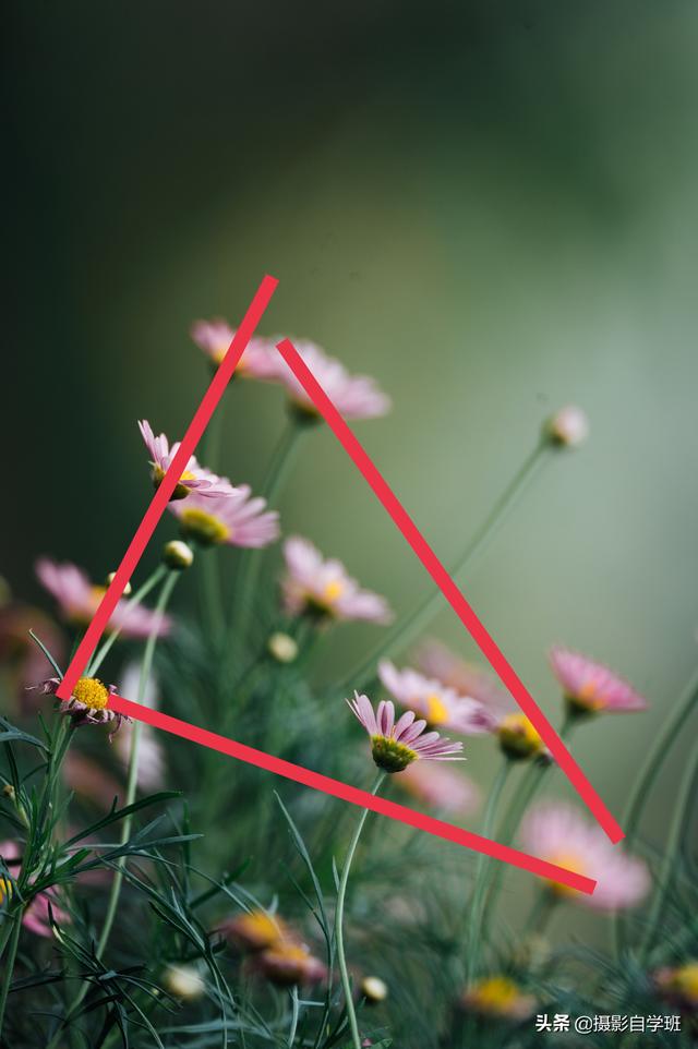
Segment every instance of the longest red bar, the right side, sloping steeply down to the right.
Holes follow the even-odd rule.
[[[444,598],[459,617],[472,639],[480,647],[485,659],[496,671],[501,680],[517,701],[526,716],[551,751],[553,758],[563,770],[580,798],[588,806],[598,822],[604,829],[612,842],[619,842],[625,835],[618,823],[611,815],[603,800],[597,794],[591,783],[583,774],[564,743],[542,712],[522,680],[510,665],[497,643],[482,625],[466,598],[448,575],[432,547],[429,545],[419,528],[409,516],[395,492],[385,481],[377,467],[373,463],[364,448],[357,441],[353,433],[341,418],[330,399],[327,397],[315,376],[293,347],[290,339],[282,339],[277,343],[284,360],[291,369],[303,389],[311,398],[323,419],[330,427],[342,448],[360,470],[374,494],[390,515],[398,529],[412,547],[422,565],[430,574]]]

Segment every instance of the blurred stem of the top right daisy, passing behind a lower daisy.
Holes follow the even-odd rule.
[[[308,424],[301,422],[294,414],[289,417],[289,421],[274,450],[266,478],[260,490],[260,494],[267,501],[269,506],[278,499],[284,489],[284,484],[296,461],[301,436],[308,429]],[[254,602],[254,592],[263,556],[263,550],[244,550],[240,555],[238,578],[236,580],[230,615],[230,651],[236,660],[240,659],[243,651],[245,628],[249,628],[252,620],[252,604]]]

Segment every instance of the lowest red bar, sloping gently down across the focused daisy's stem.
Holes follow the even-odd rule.
[[[285,776],[287,780],[294,780],[296,783],[302,783],[303,786],[313,787],[315,791],[323,791],[333,797],[341,798],[342,801],[351,801],[352,805],[359,805],[361,808],[372,809],[374,812],[389,816],[394,820],[400,820],[410,827],[416,827],[421,831],[426,831],[429,834],[434,834],[436,837],[444,837],[446,841],[455,842],[457,845],[473,848],[476,852],[484,853],[485,856],[491,856],[493,859],[512,864],[514,867],[520,867],[522,870],[530,870],[532,873],[538,875],[540,878],[546,878],[549,881],[569,885],[570,889],[577,889],[579,892],[585,892],[589,895],[593,893],[597,887],[597,882],[592,878],[586,878],[583,875],[568,870],[566,867],[558,867],[556,864],[550,864],[547,860],[539,859],[537,856],[529,856],[528,853],[522,853],[508,845],[500,845],[497,842],[491,842],[490,839],[482,837],[480,834],[473,834],[472,831],[454,827],[454,824],[434,819],[432,816],[424,816],[422,812],[417,812],[414,809],[408,808],[406,805],[399,805],[397,801],[389,801],[387,798],[376,797],[370,794],[369,791],[361,791],[359,787],[350,786],[340,780],[333,780],[332,776],[313,772],[311,769],[304,769],[299,764],[293,764],[284,758],[275,758],[273,755],[265,753],[264,750],[248,747],[245,744],[238,743],[236,739],[229,739],[227,736],[219,736],[217,733],[208,732],[206,728],[198,728],[196,725],[191,725],[186,721],[180,721],[179,718],[171,718],[169,714],[164,714],[159,710],[151,710],[151,708],[143,707],[141,703],[133,703],[122,696],[111,696],[109,698],[109,709],[119,714],[127,714],[130,718],[143,721],[154,728],[161,728],[165,732],[172,733],[174,736],[190,739],[193,743],[200,744],[202,747],[218,750],[220,753],[228,755],[230,758],[246,761],[249,764],[254,764],[258,769],[273,772],[275,775]]]

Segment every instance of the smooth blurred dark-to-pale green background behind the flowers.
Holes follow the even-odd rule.
[[[262,330],[320,342],[394,397],[357,431],[447,563],[541,420],[588,412],[589,444],[539,478],[466,593],[549,712],[553,641],[648,696],[649,713],[575,743],[621,812],[696,660],[696,4],[4,14],[0,570],[15,592],[38,596],[39,553],[95,578],[116,566],[149,496],[136,418],[182,432],[207,382],[191,321],[236,323],[272,273]],[[281,403],[231,391],[234,480],[258,482]],[[396,608],[423,593],[326,432],[281,510]],[[435,632],[474,654],[449,611]],[[374,640],[338,631],[325,666]],[[492,748],[472,749],[489,774]],[[670,772],[657,834],[672,788]]]

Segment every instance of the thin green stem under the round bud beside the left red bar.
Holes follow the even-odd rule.
[[[155,656],[155,649],[157,646],[160,619],[165,614],[167,603],[170,599],[170,595],[172,593],[172,590],[174,589],[174,584],[177,583],[179,577],[180,577],[180,574],[177,571],[171,571],[168,574],[167,579],[163,583],[163,589],[160,590],[160,594],[158,596],[157,604],[155,606],[155,620],[153,623],[153,629],[151,630],[148,639],[145,643],[145,650],[143,652],[143,662],[141,663],[141,677],[139,680],[139,695],[136,698],[136,702],[139,703],[142,703],[145,700],[145,691],[146,691],[148,679],[151,677],[151,673],[153,670],[153,659]],[[139,783],[139,751],[140,751],[142,733],[143,733],[143,723],[140,721],[136,721],[135,724],[133,725],[133,731],[131,733],[131,752],[129,755],[129,772],[128,772],[128,779],[127,779],[127,794],[125,794],[124,808],[127,808],[129,805],[133,805],[133,803],[135,801],[136,788]],[[121,837],[120,837],[121,845],[125,845],[127,842],[129,841],[132,820],[133,820],[132,815],[124,817],[124,820],[121,827]],[[105,917],[104,925],[101,927],[99,941],[95,949],[96,958],[100,958],[101,955],[104,954],[105,949],[107,946],[107,942],[111,935],[111,929],[113,927],[113,921],[115,921],[115,918],[117,915],[117,908],[119,905],[121,885],[123,883],[123,870],[125,867],[125,863],[127,863],[125,856],[120,857],[118,869],[115,871],[113,881],[111,883],[111,892],[109,894],[109,903],[107,905],[107,914]],[[75,997],[75,1001],[73,1002],[72,1006],[68,1011],[68,1014],[65,1016],[65,1023],[69,1022],[72,1014],[75,1013],[75,1011],[82,1004],[83,999],[87,993],[88,987],[89,985],[86,981],[83,982],[83,986],[81,987],[77,996]],[[58,1030],[56,1032],[53,1039],[49,1042],[48,1049],[53,1049],[53,1046],[58,1041],[59,1037],[61,1036],[61,1033],[62,1033],[62,1026],[59,1027]]]

